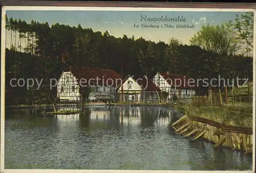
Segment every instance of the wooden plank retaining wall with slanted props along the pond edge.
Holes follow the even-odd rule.
[[[200,117],[184,115],[172,124],[175,131],[191,140],[202,138],[214,143],[214,148],[221,145],[243,150],[245,155],[252,153],[252,128],[223,125],[219,122]]]

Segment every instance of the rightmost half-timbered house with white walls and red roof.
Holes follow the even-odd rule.
[[[191,98],[196,95],[198,87],[194,79],[186,76],[169,74],[168,72],[157,73],[153,77],[153,82],[162,91],[168,93],[168,99],[171,96],[178,98]],[[175,86],[176,85],[176,86]]]

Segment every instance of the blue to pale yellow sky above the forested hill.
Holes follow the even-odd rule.
[[[182,11],[6,11],[8,18],[31,20],[52,24],[66,24],[70,26],[78,26],[81,24],[83,28],[92,28],[93,31],[106,30],[115,37],[122,37],[124,34],[128,37],[134,35],[135,38],[143,37],[152,41],[169,42],[174,37],[179,39],[182,44],[189,45],[189,39],[196,34],[203,25],[214,24],[220,25],[234,20],[236,14],[242,12],[182,12]],[[147,17],[156,17],[167,15],[168,18],[183,16],[186,22],[159,22],[141,21],[141,15]],[[164,25],[171,24],[175,28],[134,28],[134,24],[140,25]],[[177,29],[176,24],[195,25],[194,29]],[[7,37],[10,33],[7,34]],[[8,40],[8,39],[7,39]],[[8,45],[8,43],[7,43]]]

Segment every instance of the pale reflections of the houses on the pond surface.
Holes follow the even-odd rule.
[[[62,107],[60,110],[68,110],[70,107]],[[75,109],[75,108],[74,108]],[[167,107],[147,107],[147,106],[93,106],[90,109],[91,126],[96,128],[96,122],[116,122],[128,125],[140,124],[156,124],[168,125],[170,121],[177,115],[177,111]],[[82,120],[79,114],[74,115],[56,115],[56,118],[61,121]],[[89,121],[88,121],[89,122]],[[95,124],[96,123],[96,124]],[[99,125],[99,124],[98,124]],[[104,126],[101,124],[101,126]]]

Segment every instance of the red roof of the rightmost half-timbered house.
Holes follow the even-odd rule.
[[[163,76],[163,78],[168,82],[169,85],[171,85],[171,87],[175,87],[176,85],[177,88],[198,89],[197,82],[195,80],[192,80],[193,78],[182,75],[168,74],[167,72],[160,72],[159,74]]]

